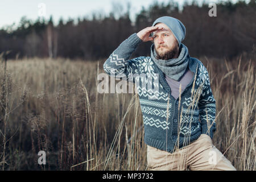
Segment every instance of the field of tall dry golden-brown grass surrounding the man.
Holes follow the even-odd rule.
[[[255,60],[200,60],[216,100],[213,144],[237,170],[255,170]],[[1,63],[2,170],[147,170],[138,94],[98,93],[104,61]]]

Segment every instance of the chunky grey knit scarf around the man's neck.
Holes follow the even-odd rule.
[[[180,44],[180,55],[177,58],[162,60],[156,59],[156,52],[154,48],[154,44],[151,46],[151,58],[158,66],[158,68],[168,77],[172,78],[175,81],[180,81],[180,78],[184,75],[187,67],[188,67],[188,48],[181,43]]]

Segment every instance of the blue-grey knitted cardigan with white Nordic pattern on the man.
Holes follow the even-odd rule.
[[[175,99],[163,72],[151,57],[129,60],[141,42],[136,33],[130,35],[105,61],[104,71],[110,76],[124,75],[127,81],[135,83],[143,114],[144,142],[172,153],[176,148],[195,141],[201,134],[212,138],[216,130],[216,104],[203,63],[189,56],[188,68],[193,72],[193,78],[181,97]],[[153,83],[147,78],[139,80],[142,74],[151,77]],[[150,84],[154,89],[145,89],[143,84]]]

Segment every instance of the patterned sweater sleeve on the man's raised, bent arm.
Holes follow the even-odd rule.
[[[141,42],[142,40],[136,33],[130,35],[105,61],[103,65],[104,71],[110,76],[122,77],[122,79],[125,76],[126,81],[135,82],[133,74],[140,74],[142,69],[141,63],[145,57],[136,57],[131,60],[129,58]]]

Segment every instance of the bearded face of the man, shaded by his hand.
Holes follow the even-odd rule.
[[[156,59],[173,59],[179,56],[179,43],[170,28],[164,23],[156,23],[162,30],[153,32]]]

